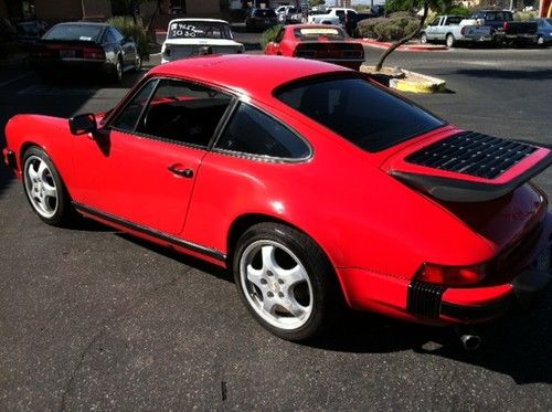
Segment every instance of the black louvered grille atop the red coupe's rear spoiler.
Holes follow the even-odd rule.
[[[410,155],[406,161],[495,179],[535,150],[537,147],[523,142],[464,131]]]

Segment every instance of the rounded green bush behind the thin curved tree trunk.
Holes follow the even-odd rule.
[[[393,13],[389,18],[367,19],[357,27],[359,36],[380,42],[401,40],[417,29],[420,19],[407,12]]]

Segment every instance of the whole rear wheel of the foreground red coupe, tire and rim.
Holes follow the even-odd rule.
[[[237,292],[255,319],[293,341],[314,338],[333,323],[340,289],[320,247],[279,223],[261,223],[237,242],[233,260]]]

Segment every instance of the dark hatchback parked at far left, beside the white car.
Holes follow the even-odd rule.
[[[139,71],[135,41],[106,23],[60,23],[32,47],[30,66],[46,78],[60,72],[103,73],[120,82],[126,71]]]

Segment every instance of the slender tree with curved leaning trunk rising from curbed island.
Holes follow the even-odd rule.
[[[375,64],[375,71],[381,71],[385,59],[388,59],[388,56],[393,53],[393,51],[395,51],[400,45],[420,35],[420,32],[425,24],[425,19],[427,18],[427,12],[429,11],[429,9],[437,12],[440,10],[446,10],[452,6],[452,2],[453,0],[388,0],[388,2],[385,3],[385,13],[420,9],[423,10],[423,13],[416,30],[414,30],[411,34],[404,36],[403,39],[393,42],[393,44],[391,44],[389,49],[382,53],[382,55],[380,56],[380,61]]]

